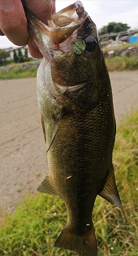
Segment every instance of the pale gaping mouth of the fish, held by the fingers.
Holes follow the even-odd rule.
[[[85,23],[88,13],[80,1],[52,14],[52,20],[48,20],[48,26],[42,23],[32,12],[25,9],[29,31],[43,56],[51,55],[49,50],[59,50],[69,37],[70,41],[77,38],[77,31]],[[73,36],[74,31],[75,36]],[[73,37],[73,39],[72,39]],[[44,49],[42,49],[44,48]],[[48,53],[45,53],[48,51]],[[50,56],[48,57],[48,59]]]

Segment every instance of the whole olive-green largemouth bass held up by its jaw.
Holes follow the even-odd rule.
[[[95,23],[77,1],[48,26],[26,11],[44,56],[37,73],[38,105],[49,175],[38,191],[58,195],[67,223],[56,247],[96,256],[92,211],[97,195],[122,206],[112,154],[116,134],[111,82]]]

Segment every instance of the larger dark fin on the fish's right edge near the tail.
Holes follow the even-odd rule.
[[[99,193],[99,196],[106,199],[109,203],[117,205],[122,208],[122,203],[118,194],[118,189],[115,181],[114,167],[113,164],[109,170],[107,180],[104,184],[103,189]]]

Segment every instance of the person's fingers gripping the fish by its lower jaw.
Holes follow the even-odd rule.
[[[47,24],[47,20],[56,11],[55,2],[56,0],[0,0],[0,35],[6,35],[17,46],[28,44],[30,54],[41,58],[42,55],[27,30],[23,5]]]

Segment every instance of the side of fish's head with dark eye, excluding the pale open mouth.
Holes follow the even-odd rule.
[[[103,51],[97,28],[88,14],[83,17],[81,25],[66,40],[53,46],[51,67],[55,81],[63,78],[74,86],[90,79],[97,79],[103,62]]]

